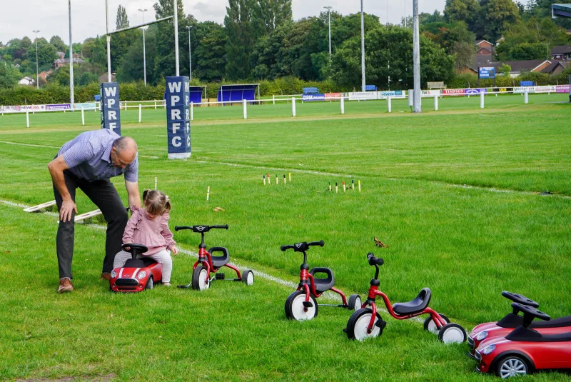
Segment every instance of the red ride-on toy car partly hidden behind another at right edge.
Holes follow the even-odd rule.
[[[502,296],[521,305],[532,306],[539,308],[540,304],[536,303],[521,294],[502,292]],[[520,316],[519,308],[513,308],[513,311],[497,322],[480,323],[472,329],[470,336],[468,336],[468,347],[470,348],[470,356],[475,356],[475,350],[480,343],[487,338],[492,337],[505,337],[517,326],[522,325],[523,317]],[[571,316],[555,318],[550,321],[533,321],[530,323],[530,329],[535,329],[542,334],[557,334],[571,331]]]

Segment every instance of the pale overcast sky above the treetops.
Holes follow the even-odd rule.
[[[179,0],[180,1],[180,0]],[[115,29],[115,17],[119,4],[127,9],[131,25],[143,19],[138,9],[148,9],[147,21],[154,19],[153,4],[156,0],[108,0],[109,29]],[[400,17],[412,14],[413,0],[363,0],[366,13],[375,14],[385,23],[400,22]],[[228,0],[183,0],[185,14],[193,14],[198,21],[223,23]],[[445,0],[420,1],[420,11],[442,11]],[[360,0],[293,0],[293,19],[315,16],[323,6],[333,6],[341,14],[360,11]],[[71,0],[72,34],[74,42],[105,34],[105,0]],[[29,36],[34,39],[35,29],[39,36],[50,39],[59,35],[69,41],[68,1],[66,0],[0,0],[0,41],[6,44],[11,39]]]

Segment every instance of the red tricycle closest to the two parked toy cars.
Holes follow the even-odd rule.
[[[466,341],[466,331],[462,326],[458,323],[450,323],[446,316],[438,314],[428,307],[432,293],[429,288],[423,288],[413,301],[391,304],[385,293],[378,290],[380,285],[379,266],[382,266],[385,261],[382,258],[376,258],[373,253],[368,253],[367,259],[370,266],[375,266],[375,278],[370,281],[367,300],[358,311],[350,316],[347,328],[343,330],[349,339],[363,341],[366,338],[378,337],[383,334],[383,329],[387,323],[380,318],[375,304],[377,296],[381,296],[388,313],[394,318],[405,320],[430,314],[424,323],[425,330],[438,331],[438,338],[444,343],[463,343]]]

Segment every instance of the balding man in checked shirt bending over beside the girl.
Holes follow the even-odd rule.
[[[74,256],[74,223],[77,213],[75,198],[78,187],[98,206],[107,222],[101,278],[108,280],[115,255],[121,250],[123,231],[128,221],[123,201],[109,178],[124,174],[129,207],[141,207],[136,142],[108,129],[86,131],[64,144],[58,156],[48,164],[48,169],[59,209],[56,238],[58,293],[74,290],[71,285],[71,259]]]

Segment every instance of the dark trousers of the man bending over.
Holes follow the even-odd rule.
[[[94,202],[103,213],[103,218],[107,222],[107,238],[105,242],[105,258],[103,258],[103,272],[113,271],[113,260],[116,253],[121,251],[123,244],[123,232],[128,221],[128,214],[123,206],[123,201],[119,197],[115,186],[108,179],[101,181],[86,181],[79,179],[70,171],[64,171],[64,179],[67,189],[76,201],[76,189],[81,191]],[[58,211],[61,209],[63,199],[54,185],[54,196]],[[75,212],[72,211],[71,221],[59,221],[58,233],[56,237],[56,248],[58,253],[59,277],[71,278],[71,260],[74,257],[74,233],[75,233]]]

